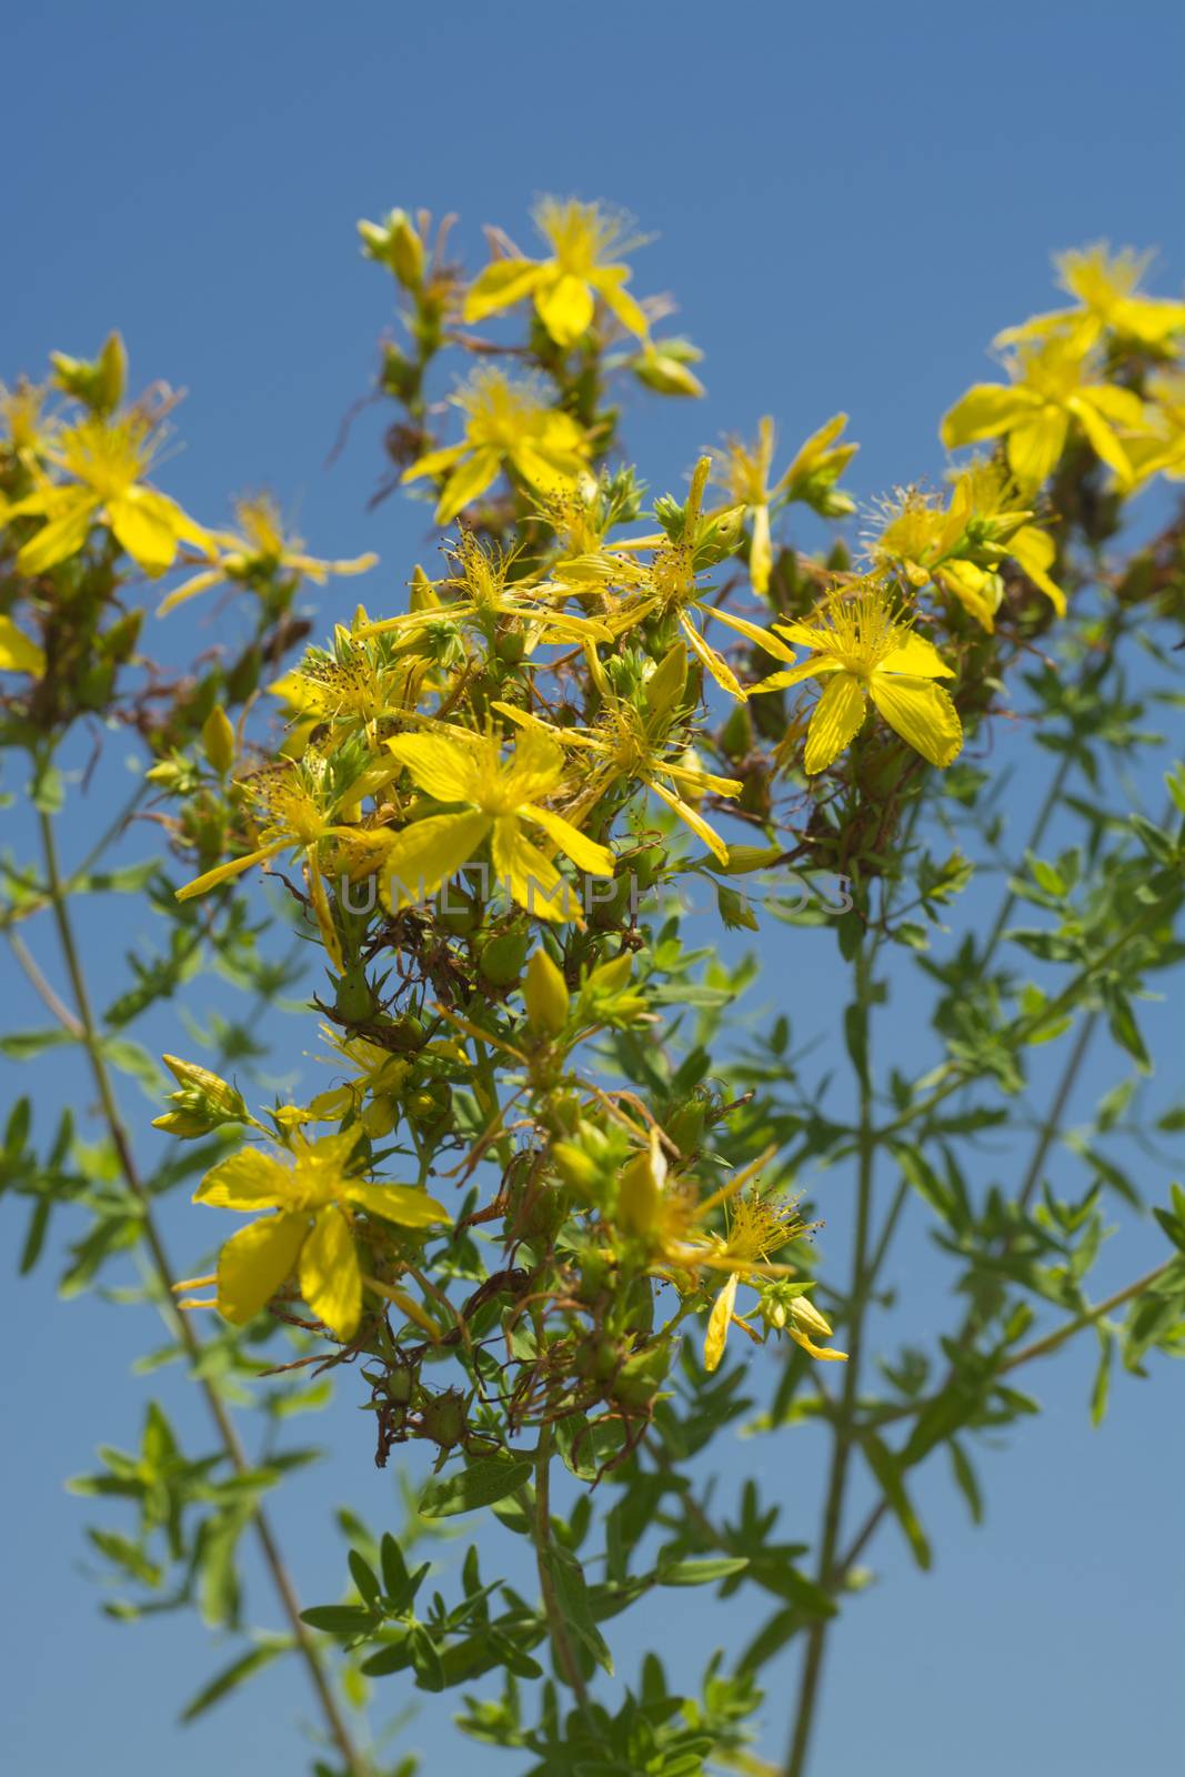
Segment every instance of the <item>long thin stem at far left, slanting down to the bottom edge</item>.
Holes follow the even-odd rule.
[[[133,1192],[137,1203],[140,1205],[144,1242],[147,1246],[147,1253],[162,1295],[167,1303],[171,1299],[169,1292],[172,1287],[172,1267],[169,1265],[169,1256],[165,1253],[160,1231],[156,1228],[156,1221],[153,1217],[149,1192],[144,1187],[144,1180],[140,1178],[135,1159],[131,1155],[128,1132],[123,1125],[123,1118],[119,1116],[115,1093],[112,1089],[107,1061],[103,1057],[98,1025],[94,1022],[94,1013],[91,1009],[91,995],[87,992],[85,976],[78,958],[78,945],[75,942],[75,931],[69,919],[69,908],[66,904],[66,890],[62,885],[62,874],[57,858],[57,841],[53,837],[53,821],[44,812],[39,816],[39,821],[41,821],[41,842],[44,851],[46,880],[50,885],[50,901],[53,906],[53,920],[57,924],[57,935],[62,947],[62,960],[66,963],[66,972],[69,976],[71,992],[78,1011],[78,1024],[82,1025],[82,1043],[91,1061],[91,1073],[94,1075],[94,1086],[99,1095],[103,1121],[107,1123],[107,1130],[115,1148],[119,1169],[128,1183],[128,1189]],[[197,1368],[199,1358],[203,1354],[203,1345],[197,1333],[194,1331],[192,1320],[188,1320],[187,1315],[178,1315],[178,1333],[185,1347],[185,1352],[188,1356],[190,1367]],[[226,1406],[222,1404],[217,1388],[204,1377],[199,1377],[199,1388],[206,1397],[206,1406],[210,1407],[210,1414],[215,1422],[219,1438],[222,1441],[222,1448],[226,1450],[231,1468],[235,1470],[236,1475],[249,1473],[251,1462],[247,1461],[247,1452],[243,1450],[238,1430],[235,1429],[235,1423],[231,1422]],[[362,1763],[359,1752],[354,1747],[350,1731],[345,1724],[345,1717],[341,1715],[338,1699],[332,1693],[329,1674],[325,1670],[322,1656],[313,1638],[309,1637],[307,1626],[300,1621],[300,1601],[297,1598],[297,1590],[288,1574],[288,1567],[284,1566],[284,1558],[275,1541],[272,1525],[261,1505],[258,1505],[252,1514],[252,1525],[256,1530],[256,1537],[259,1541],[259,1550],[263,1553],[265,1566],[272,1576],[275,1594],[281,1601],[281,1608],[284,1612],[284,1617],[288,1619],[295,1647],[306,1663],[309,1681],[313,1685],[313,1690],[316,1692],[316,1699],[325,1717],[325,1725],[329,1729],[329,1734],[338,1750],[341,1752],[346,1763],[346,1770],[352,1773],[352,1777],[364,1777],[366,1765]]]

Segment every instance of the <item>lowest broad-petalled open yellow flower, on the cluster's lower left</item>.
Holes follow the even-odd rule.
[[[219,1253],[215,1278],[192,1278],[178,1288],[217,1279],[219,1311],[235,1326],[243,1326],[297,1271],[300,1294],[313,1313],[336,1338],[354,1338],[362,1317],[364,1283],[354,1212],[364,1210],[400,1228],[441,1228],[449,1223],[444,1205],[426,1191],[350,1176],[350,1157],[361,1134],[354,1128],[320,1141],[295,1136],[290,1166],[261,1148],[243,1148],[219,1160],[194,1192],[194,1203],[277,1214],[261,1215],[231,1235]]]

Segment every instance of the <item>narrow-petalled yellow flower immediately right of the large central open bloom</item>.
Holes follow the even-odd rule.
[[[528,716],[526,711],[515,709],[512,704],[494,704],[494,709],[521,729],[549,737],[553,745],[576,746],[593,753],[597,764],[576,805],[569,810],[570,814],[577,810],[585,814],[622,780],[643,784],[691,828],[721,864],[727,864],[727,844],[684,796],[696,800],[709,793],[739,796],[744,785],[739,778],[721,778],[709,771],[693,769],[682,762],[684,743],[666,739],[666,729],[682,697],[686,677],[688,650],[677,643],[650,673],[643,709],[616,697],[608,682],[600,688],[602,713],[595,729],[549,729],[538,716]],[[675,759],[670,757],[672,746],[677,748]],[[661,778],[666,778],[666,784]],[[679,791],[684,791],[684,796]]]

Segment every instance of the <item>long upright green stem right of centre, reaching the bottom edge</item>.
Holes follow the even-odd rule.
[[[871,1000],[871,945],[862,947],[856,958],[856,1000],[869,1008]],[[872,951],[874,954],[874,951]],[[867,1050],[867,1045],[865,1045]],[[855,1441],[856,1406],[860,1400],[860,1358],[863,1351],[863,1322],[869,1303],[872,1272],[869,1267],[869,1231],[872,1224],[872,1183],[876,1160],[876,1136],[872,1128],[872,1077],[867,1052],[860,1075],[860,1132],[858,1132],[858,1178],[856,1178],[856,1231],[853,1239],[851,1292],[847,1317],[847,1363],[844,1365],[844,1388],[833,1420],[831,1468],[823,1505],[823,1530],[819,1537],[817,1582],[830,1587],[839,1539],[844,1525],[844,1500],[847,1494],[847,1471]],[[819,1683],[828,1646],[830,1619],[812,1622],[803,1653],[803,1669],[798,1686],[798,1706],[794,1709],[794,1733],[785,1763],[785,1777],[803,1777],[807,1752],[819,1706]]]

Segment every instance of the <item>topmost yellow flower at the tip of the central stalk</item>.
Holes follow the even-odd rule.
[[[604,263],[641,245],[624,238],[627,224],[599,204],[544,197],[535,208],[535,226],[553,251],[551,259],[494,259],[465,297],[465,320],[485,320],[533,297],[544,327],[567,348],[588,332],[600,297],[629,332],[645,339],[647,316],[625,290],[629,267]]]

